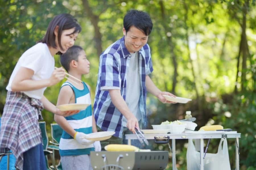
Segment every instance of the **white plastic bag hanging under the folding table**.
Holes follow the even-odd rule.
[[[228,156],[227,139],[221,138],[218,147],[218,152],[216,154],[206,153],[205,159],[203,160],[205,170],[231,170]],[[196,151],[192,139],[189,139],[187,147],[187,169],[200,169],[200,152]]]

